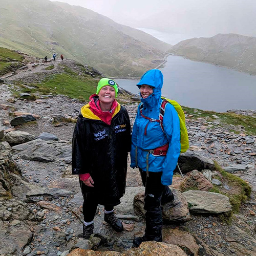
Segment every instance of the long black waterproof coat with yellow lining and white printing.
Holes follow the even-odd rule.
[[[125,192],[127,154],[131,150],[131,126],[126,109],[118,104],[111,124],[95,116],[89,104],[79,114],[72,143],[72,174],[89,173],[99,204],[117,205]]]

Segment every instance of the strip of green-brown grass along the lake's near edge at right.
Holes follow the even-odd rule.
[[[245,132],[249,135],[256,135],[256,117],[254,116],[244,116],[239,114],[234,114],[230,112],[218,113],[214,111],[204,111],[200,109],[190,109],[186,106],[182,106],[183,111],[188,115],[193,115],[193,117],[187,117],[189,119],[204,118],[206,121],[218,120],[221,124],[232,124],[234,126],[242,125],[244,126]],[[196,110],[196,111],[195,111]],[[219,118],[215,119],[212,115],[216,115]],[[234,127],[230,129],[230,132],[239,133]]]

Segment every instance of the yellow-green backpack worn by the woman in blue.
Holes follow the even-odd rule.
[[[160,115],[159,115],[159,119],[161,120],[161,122],[160,122],[161,128],[163,130],[162,119],[163,119],[163,115],[165,113],[165,106],[169,102],[170,104],[172,104],[174,106],[175,110],[178,113],[179,119],[180,119],[180,153],[184,153],[188,150],[188,147],[189,147],[184,112],[183,112],[180,104],[178,102],[176,102],[175,100],[167,99],[164,97],[161,97],[161,99],[163,99],[163,101],[161,103]]]

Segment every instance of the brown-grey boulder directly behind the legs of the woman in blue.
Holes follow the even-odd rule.
[[[172,189],[172,191],[174,200],[162,205],[163,221],[166,223],[189,221],[190,215],[185,197],[176,189]],[[144,218],[146,212],[144,204],[144,192],[140,192],[134,197],[134,211],[142,218]]]

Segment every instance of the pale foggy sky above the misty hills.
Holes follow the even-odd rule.
[[[54,0],[51,0],[54,1]],[[210,37],[256,36],[255,0],[59,0],[134,28]]]

